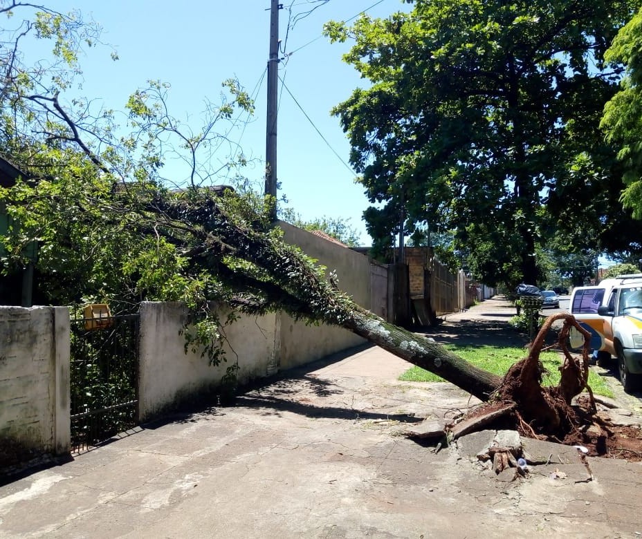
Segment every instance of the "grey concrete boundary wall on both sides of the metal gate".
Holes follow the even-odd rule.
[[[286,242],[336,270],[339,287],[356,303],[385,315],[385,267],[373,276],[367,256],[287,223],[280,226]],[[284,313],[242,316],[225,329],[228,362],[214,367],[200,351],[185,354],[179,332],[186,319],[179,303],[140,305],[140,421],[211,393],[237,359],[244,384],[363,343],[342,328],[308,326]],[[70,450],[69,343],[67,308],[0,307],[0,442],[11,439],[42,453]]]

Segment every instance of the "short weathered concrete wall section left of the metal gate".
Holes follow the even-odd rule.
[[[69,338],[67,308],[0,307],[0,443],[69,451]]]

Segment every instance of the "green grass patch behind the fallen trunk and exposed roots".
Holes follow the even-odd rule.
[[[502,346],[444,346],[450,352],[466,359],[476,367],[488,370],[497,376],[504,376],[508,368],[516,361],[526,357],[525,348],[502,347]],[[544,352],[540,354],[540,360],[544,368],[548,371],[544,374],[544,386],[556,386],[560,382],[559,366],[562,364],[562,358],[557,352]],[[443,378],[434,375],[428,370],[413,366],[399,377],[404,381],[445,381]],[[614,394],[607,386],[603,377],[599,376],[593,370],[589,370],[589,386],[596,395],[605,397],[614,397]]]

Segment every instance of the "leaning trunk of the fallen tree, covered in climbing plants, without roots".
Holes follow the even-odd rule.
[[[189,230],[199,238],[201,243],[191,254],[207,271],[219,272],[228,283],[235,283],[236,293],[227,298],[230,305],[249,313],[283,309],[296,319],[340,325],[482,400],[499,386],[501,379],[496,375],[364,310],[299,249],[286,245],[270,225],[260,229],[258,223],[265,222],[259,216],[248,227],[232,218],[224,205],[219,197],[201,200],[196,207],[193,201],[188,205],[184,200],[163,208],[157,205],[153,224],[158,227],[164,222],[167,229]],[[239,258],[250,265],[239,265]],[[256,278],[257,272],[268,278]]]

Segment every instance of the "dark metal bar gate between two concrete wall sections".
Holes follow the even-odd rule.
[[[138,314],[71,321],[71,448],[138,424]]]

